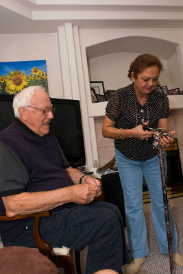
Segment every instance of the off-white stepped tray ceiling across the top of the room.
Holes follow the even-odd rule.
[[[0,0],[0,34],[79,29],[183,28],[182,0]]]

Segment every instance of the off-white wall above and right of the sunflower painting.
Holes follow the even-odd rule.
[[[0,40],[0,62],[46,60],[49,96],[62,98],[57,34],[6,34]]]

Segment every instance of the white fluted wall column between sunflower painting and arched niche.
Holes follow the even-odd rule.
[[[80,37],[77,27],[66,23],[64,27],[58,27],[58,41],[60,49],[60,62],[62,68],[62,82],[64,99],[80,100],[82,112],[82,125],[84,131],[84,145],[86,153],[86,165],[88,169],[93,167],[95,161],[99,162],[97,153],[97,139],[95,134],[94,118],[88,117],[88,104],[86,90],[90,92],[88,66],[86,60],[82,60]],[[84,73],[83,62],[87,71]],[[86,79],[85,78],[86,75]],[[85,82],[87,84],[85,85]]]

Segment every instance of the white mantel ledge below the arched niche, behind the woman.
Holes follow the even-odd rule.
[[[169,105],[171,110],[180,110],[183,108],[183,95],[169,95]],[[104,116],[107,101],[100,103],[88,103],[88,116]]]

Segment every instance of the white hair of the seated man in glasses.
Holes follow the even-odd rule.
[[[20,107],[27,107],[30,105],[32,96],[34,95],[35,90],[42,90],[45,91],[43,86],[28,86],[28,88],[24,88],[19,93],[14,96],[13,99],[13,109],[14,109],[14,116],[19,118],[19,108]],[[46,92],[46,91],[45,91]]]

